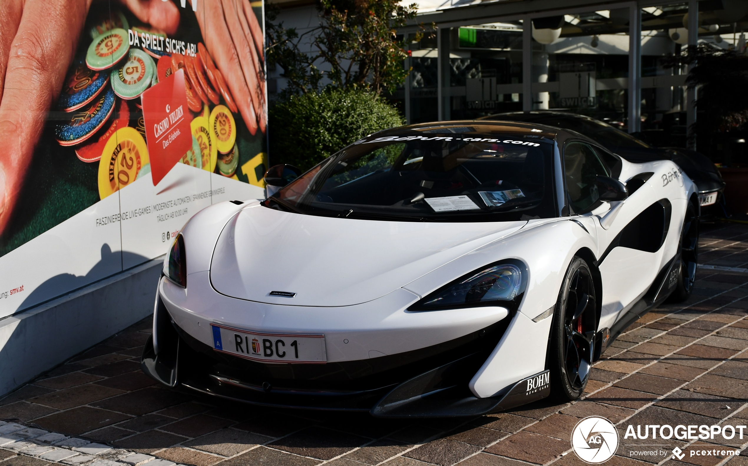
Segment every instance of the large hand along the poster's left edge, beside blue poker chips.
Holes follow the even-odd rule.
[[[171,1],[120,1],[141,21],[177,30],[180,13]],[[0,0],[0,234],[73,61],[89,7],[91,0]]]

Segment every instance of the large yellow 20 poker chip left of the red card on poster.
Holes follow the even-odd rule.
[[[148,164],[148,146],[137,129],[126,126],[114,131],[99,161],[99,197],[104,199],[135,181]]]

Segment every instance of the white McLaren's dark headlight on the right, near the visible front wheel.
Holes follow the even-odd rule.
[[[456,279],[411,305],[408,310],[435,311],[497,303],[516,309],[524,293],[526,275],[524,264],[506,259]]]

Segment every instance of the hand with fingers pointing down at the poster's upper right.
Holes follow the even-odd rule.
[[[264,37],[249,0],[197,3],[197,22],[247,128],[266,131]]]

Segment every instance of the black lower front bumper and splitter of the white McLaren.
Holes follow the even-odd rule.
[[[183,327],[191,320],[205,319],[199,314],[188,318],[195,313],[168,299],[174,296],[164,292],[164,285],[169,282],[159,287],[154,316],[158,354],[152,338],[141,366],[170,387],[262,406],[370,411],[378,417],[475,415],[530,403],[549,393],[548,387],[536,387],[527,394],[520,384],[517,393],[509,386],[493,397],[479,398],[468,388],[505,334],[512,321],[509,317],[457,338],[392,355],[348,360],[328,357],[327,364],[268,364],[216,352],[187,332]],[[209,326],[206,324],[200,326]]]

